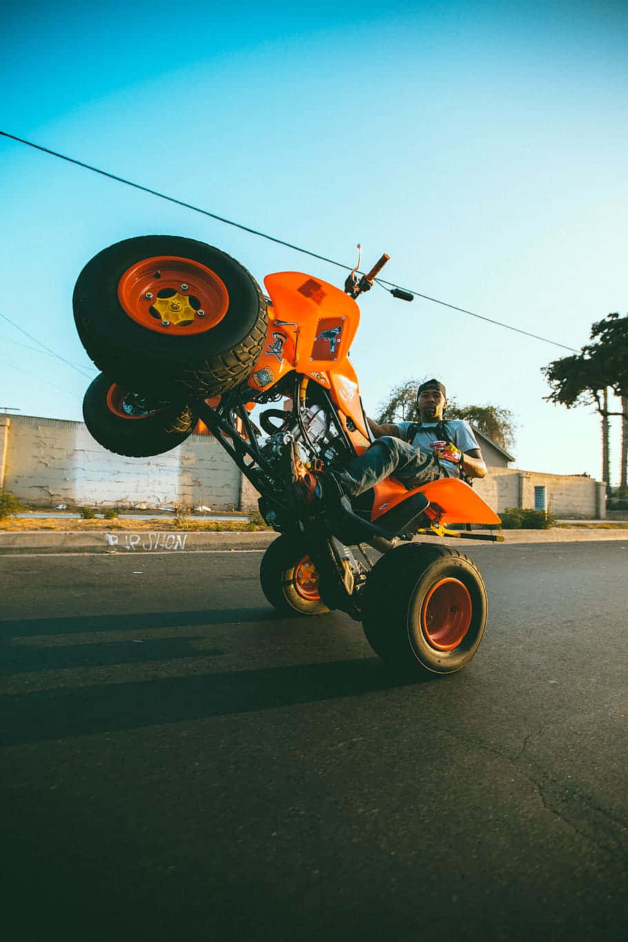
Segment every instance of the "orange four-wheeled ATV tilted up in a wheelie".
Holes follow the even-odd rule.
[[[458,479],[413,491],[385,479],[332,511],[315,501],[299,509],[294,499],[290,469],[306,476],[342,465],[373,440],[348,352],[360,323],[355,299],[387,260],[360,280],[352,272],[345,291],[301,272],[268,275],[266,297],[246,268],[192,239],[145,235],[110,246],[74,289],[78,333],[103,371],[84,415],[97,442],[135,457],[179,445],[201,419],[282,534],[262,560],[268,601],[286,615],[346,611],[381,658],[450,674],[482,640],[484,582],[457,549],[411,541],[478,538],[448,527],[497,525],[491,508]],[[377,562],[367,546],[383,554]]]

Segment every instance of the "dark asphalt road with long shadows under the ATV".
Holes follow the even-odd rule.
[[[0,559],[8,942],[627,937],[628,542],[469,555],[417,684],[258,552]]]

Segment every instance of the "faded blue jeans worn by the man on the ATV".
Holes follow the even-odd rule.
[[[351,458],[342,468],[333,469],[346,494],[353,497],[368,491],[380,480],[395,475],[402,484],[419,487],[444,474],[432,455],[412,447],[392,435],[382,435],[373,444]]]

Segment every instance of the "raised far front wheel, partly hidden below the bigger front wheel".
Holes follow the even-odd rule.
[[[161,455],[181,445],[198,421],[189,405],[151,402],[103,373],[88,387],[83,417],[99,445],[130,458]]]

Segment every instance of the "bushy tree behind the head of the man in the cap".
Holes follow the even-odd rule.
[[[418,380],[409,380],[395,386],[388,399],[380,407],[376,421],[381,422],[420,422],[421,414],[416,404]],[[444,418],[463,418],[476,429],[484,432],[502,448],[514,445],[515,423],[509,409],[500,406],[461,406],[454,399],[447,399]]]

